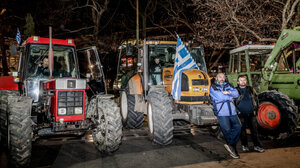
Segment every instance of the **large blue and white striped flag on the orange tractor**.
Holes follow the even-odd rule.
[[[172,81],[173,99],[180,100],[182,72],[193,68],[199,69],[190,52],[187,50],[180,37],[177,35],[176,58]]]

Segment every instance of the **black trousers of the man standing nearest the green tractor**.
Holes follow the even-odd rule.
[[[248,127],[251,131],[251,139],[253,141],[254,146],[259,146],[260,142],[258,140],[258,133],[257,133],[257,121],[255,116],[240,116],[240,120],[242,123],[242,130],[241,130],[241,141],[243,146],[248,146],[248,138],[246,133],[246,128]]]

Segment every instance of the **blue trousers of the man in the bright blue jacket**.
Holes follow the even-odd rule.
[[[236,147],[241,132],[241,122],[237,115],[218,116],[220,128],[228,145]]]

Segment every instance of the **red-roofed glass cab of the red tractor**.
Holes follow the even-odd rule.
[[[49,38],[29,37],[21,46],[18,65],[19,90],[39,102],[43,83],[58,78],[79,78],[75,44],[72,39],[52,40],[53,58],[49,57]],[[51,71],[51,72],[50,72]]]

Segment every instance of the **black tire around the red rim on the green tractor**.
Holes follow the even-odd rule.
[[[265,91],[258,95],[260,105],[271,102],[280,112],[280,123],[276,128],[265,129],[258,124],[259,134],[271,139],[285,139],[293,135],[298,126],[299,114],[294,101],[287,95],[275,90]],[[260,114],[258,114],[260,115]]]

